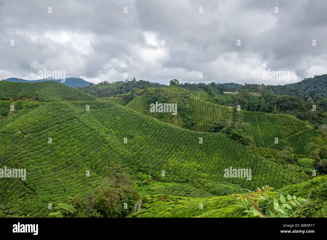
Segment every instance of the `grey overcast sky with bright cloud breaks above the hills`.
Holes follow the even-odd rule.
[[[264,80],[270,69],[293,83],[327,73],[326,10],[318,0],[0,0],[0,79],[36,80],[46,69],[93,83],[127,74],[285,84]]]

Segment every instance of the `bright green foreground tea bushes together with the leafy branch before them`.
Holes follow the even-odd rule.
[[[153,194],[143,198],[142,209],[132,217],[254,217],[255,213],[263,217],[303,217],[305,215],[323,217],[327,216],[326,186],[327,176],[316,177],[301,184],[288,185],[275,192],[271,192],[271,188],[267,186],[255,191],[259,195],[249,192],[250,198],[248,194],[240,194],[248,201],[248,205],[245,200],[243,203],[237,200],[237,194],[234,195],[236,198],[232,196],[190,198]],[[294,197],[294,195],[302,197]],[[252,202],[259,210],[254,211],[253,208],[250,210],[253,206]],[[199,203],[202,203],[203,209],[199,209]],[[247,205],[248,211],[252,211],[251,214],[244,213],[246,209],[242,208],[243,204]],[[314,211],[311,210],[312,206]]]

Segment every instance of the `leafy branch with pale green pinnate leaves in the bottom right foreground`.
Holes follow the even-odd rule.
[[[303,199],[301,197],[296,198],[293,196],[293,198],[287,194],[287,202],[283,194],[280,196],[281,205],[278,203],[278,201],[274,198],[274,212],[271,212],[269,210],[269,214],[266,213],[263,214],[262,208],[259,207],[259,201],[262,200],[268,200],[269,199],[269,193],[271,192],[271,189],[274,189],[273,187],[269,187],[269,185],[266,185],[265,187],[262,187],[262,189],[258,188],[255,192],[252,192],[250,190],[247,196],[242,196],[241,194],[232,194],[231,196],[234,196],[237,198],[238,202],[240,203],[239,206],[242,208],[245,208],[245,213],[252,213],[253,216],[258,217],[289,217],[288,215],[290,212],[293,212],[292,207],[293,206],[301,206],[304,201],[307,201],[306,199]]]

